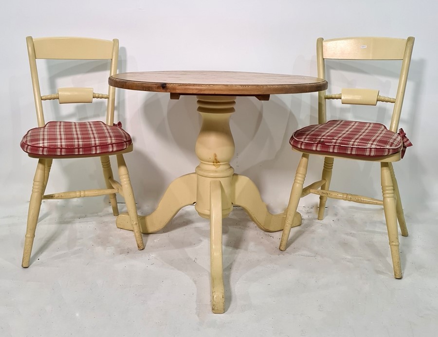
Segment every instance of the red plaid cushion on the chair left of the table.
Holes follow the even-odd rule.
[[[125,150],[131,143],[131,136],[121,125],[54,121],[29,130],[20,146],[33,155],[72,156],[110,154]]]

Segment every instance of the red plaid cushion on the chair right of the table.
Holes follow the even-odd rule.
[[[306,126],[292,134],[292,147],[363,157],[383,157],[404,150],[412,143],[403,130],[397,134],[380,123],[334,120]]]

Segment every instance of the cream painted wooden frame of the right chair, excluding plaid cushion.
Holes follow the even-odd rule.
[[[395,98],[381,96],[379,95],[379,90],[375,89],[343,89],[341,94],[327,94],[326,91],[320,91],[318,94],[318,123],[324,124],[327,122],[327,99],[341,99],[343,104],[362,105],[376,105],[377,102],[387,102],[394,104],[389,129],[393,132],[397,132],[413,45],[413,37],[408,37],[407,39],[394,39],[386,37],[351,37],[331,40],[318,38],[316,43],[318,77],[323,79],[326,78],[326,59],[402,60],[399,84]],[[359,156],[334,155],[331,153],[317,151],[303,151],[296,148],[293,148],[293,150],[302,153],[302,158],[298,165],[295,180],[292,185],[292,192],[287,213],[289,214],[296,212],[299,198],[308,194],[320,195],[318,210],[319,220],[322,220],[324,217],[324,210],[328,197],[370,205],[383,205],[391,257],[393,261],[394,276],[395,278],[402,278],[397,221],[399,222],[403,236],[407,236],[408,231],[406,228],[406,221],[404,219],[397,179],[392,166],[392,162],[401,160],[401,151],[389,156],[366,158]],[[308,165],[307,160],[310,154],[324,156],[324,168],[321,180],[310,184],[308,187],[306,187],[306,189],[303,190],[302,186]],[[380,162],[383,201],[364,195],[352,195],[344,192],[329,191],[334,158]],[[323,183],[321,184],[322,181]],[[318,186],[321,186],[321,189],[318,189]],[[286,220],[285,229],[280,241],[281,250],[286,248],[290,230],[290,222]]]

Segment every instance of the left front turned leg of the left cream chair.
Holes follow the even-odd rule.
[[[29,212],[27,213],[27,228],[24,237],[23,260],[21,266],[27,268],[29,266],[32,246],[34,244],[35,230],[37,229],[37,222],[39,210],[41,208],[42,196],[44,193],[44,181],[46,171],[46,160],[39,159],[37,164],[37,171],[35,172],[34,183],[32,186],[32,195],[29,203]]]

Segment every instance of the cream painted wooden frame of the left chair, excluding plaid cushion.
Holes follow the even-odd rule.
[[[37,71],[37,58],[48,59],[108,59],[110,61],[110,75],[117,71],[119,43],[117,39],[112,41],[99,40],[91,38],[68,38],[68,37],[48,37],[33,39],[31,36],[26,37],[27,50],[29,55],[29,65],[31,69],[32,86],[34,91],[35,106],[37,111],[38,126],[44,126],[44,114],[42,100],[58,99],[59,103],[91,103],[93,98],[108,99],[107,105],[107,124],[112,125],[114,121],[114,96],[115,89],[109,87],[108,94],[94,93],[92,88],[60,88],[57,94],[41,96]],[[100,155],[72,155],[63,156],[62,158],[85,158],[101,157],[102,170],[105,178],[106,189],[91,189],[83,191],[67,191],[44,195],[49,180],[49,173],[54,158],[52,156],[29,155],[37,158],[37,172],[34,178],[34,187],[32,189],[31,202],[29,204],[29,214],[27,230],[25,236],[24,252],[22,266],[28,267],[37,220],[42,199],[70,199],[78,197],[89,197],[99,195],[109,195],[112,212],[118,215],[117,200],[115,194],[119,193],[125,198],[128,208],[129,221],[131,228],[134,230],[134,236],[137,247],[144,248],[143,238],[140,230],[134,194],[130,185],[128,169],[126,167],[123,153],[132,151],[132,145],[123,151],[112,153],[117,156],[118,171],[121,183],[115,182],[110,166],[108,154]]]

